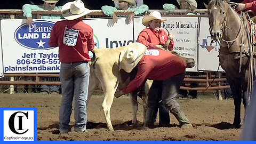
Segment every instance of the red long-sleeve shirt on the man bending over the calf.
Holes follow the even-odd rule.
[[[133,92],[146,79],[164,81],[172,76],[185,73],[186,66],[185,61],[170,52],[147,50],[137,65],[137,75],[122,92],[124,94]]]

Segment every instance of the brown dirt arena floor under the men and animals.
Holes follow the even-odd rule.
[[[169,141],[234,141],[239,140],[242,129],[231,129],[234,118],[233,100],[216,100],[214,97],[199,95],[197,99],[179,99],[178,102],[188,117],[193,129],[179,128],[178,121],[171,115],[169,127],[155,127],[141,130],[141,126],[131,127],[132,108],[129,97],[114,99],[110,111],[115,131],[108,131],[101,103],[103,97],[93,95],[87,108],[87,132],[71,131],[67,134],[58,133],[58,116],[61,97],[59,94],[43,95],[0,94],[1,107],[37,107],[38,124],[37,140],[39,141],[124,141],[124,140],[169,140]],[[141,99],[139,99],[141,101]],[[242,106],[242,111],[244,107]],[[244,114],[242,115],[242,122]],[[142,106],[138,111],[139,124],[142,125]],[[158,122],[158,120],[157,120]],[[74,113],[71,116],[74,125]]]

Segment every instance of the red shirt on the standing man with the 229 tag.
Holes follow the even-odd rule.
[[[75,46],[63,44],[65,28],[79,30]],[[93,30],[79,19],[58,21],[52,27],[48,43],[51,47],[59,46],[59,60],[62,63],[90,61],[88,52],[94,49]]]

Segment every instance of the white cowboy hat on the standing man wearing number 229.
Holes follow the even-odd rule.
[[[80,0],[68,2],[61,8],[61,15],[67,20],[74,20],[90,13],[89,9],[84,7],[84,3]]]

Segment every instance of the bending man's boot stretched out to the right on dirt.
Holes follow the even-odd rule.
[[[183,111],[181,110],[181,107],[174,108],[171,110],[171,113],[175,116],[175,118],[180,123],[181,128],[185,127],[193,127],[189,122]]]

